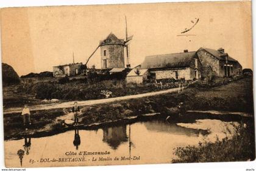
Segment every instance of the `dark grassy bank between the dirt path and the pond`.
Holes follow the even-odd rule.
[[[81,107],[79,116],[82,124],[94,122],[111,122],[129,116],[140,116],[144,113],[164,113],[172,115],[172,109],[179,102],[185,102],[187,110],[221,110],[253,113],[252,78],[244,78],[227,85],[213,88],[188,88],[182,93],[148,96],[104,104]],[[40,110],[32,112],[33,127],[31,132],[62,130],[62,109]],[[4,115],[5,138],[11,138],[24,131],[23,118],[20,113]]]

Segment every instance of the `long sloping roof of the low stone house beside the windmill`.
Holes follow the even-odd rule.
[[[188,67],[195,55],[196,52],[184,52],[146,56],[141,69]]]

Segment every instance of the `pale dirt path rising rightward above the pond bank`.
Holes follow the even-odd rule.
[[[113,102],[113,101],[121,101],[125,99],[135,99],[135,98],[143,98],[146,96],[155,96],[155,95],[161,95],[165,93],[172,93],[177,92],[179,88],[174,89],[168,89],[168,90],[162,90],[158,92],[149,92],[149,93],[143,93],[139,95],[129,95],[129,96],[121,96],[116,98],[106,98],[106,99],[93,99],[93,100],[87,100],[87,101],[77,101],[79,106],[88,106],[93,104],[101,104],[105,102]],[[38,104],[35,106],[29,106],[30,111],[34,110],[49,110],[49,109],[64,109],[68,107],[72,107],[75,101],[69,101],[69,102],[62,102],[62,103],[54,103],[54,104]],[[21,107],[11,107],[4,109],[4,114],[9,113],[20,113]]]

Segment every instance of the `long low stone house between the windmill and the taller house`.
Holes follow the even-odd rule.
[[[151,79],[200,79],[201,62],[196,52],[146,56],[141,69],[148,69]]]

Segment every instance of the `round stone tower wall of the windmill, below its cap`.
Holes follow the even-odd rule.
[[[105,50],[105,55],[104,55]],[[104,59],[107,59],[107,69],[124,68],[124,45],[108,44],[101,46],[101,69],[105,69]]]

